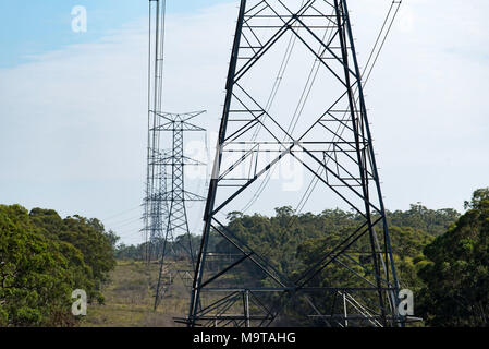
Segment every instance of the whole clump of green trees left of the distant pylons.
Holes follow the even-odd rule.
[[[103,303],[118,237],[98,219],[0,205],[0,326],[73,326],[72,291]]]

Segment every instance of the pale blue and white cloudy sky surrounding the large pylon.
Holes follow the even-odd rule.
[[[360,63],[390,2],[349,2]],[[209,153],[237,3],[168,0],[164,105],[207,110]],[[87,10],[86,33],[72,31],[75,5]],[[2,204],[97,217],[125,243],[142,240],[147,14],[146,0],[0,3]],[[403,1],[366,88],[389,209],[462,210],[489,185],[488,14],[484,0]],[[204,180],[190,186],[205,195]],[[201,204],[190,212],[198,232]]]

